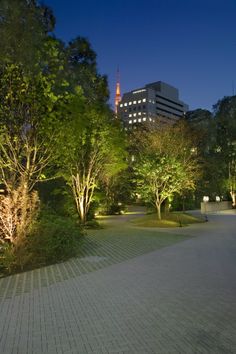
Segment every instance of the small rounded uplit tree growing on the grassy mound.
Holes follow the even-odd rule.
[[[195,188],[199,164],[194,136],[184,122],[179,122],[149,131],[141,139],[134,165],[137,192],[155,206],[161,219],[165,200]]]

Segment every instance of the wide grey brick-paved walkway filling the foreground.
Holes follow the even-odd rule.
[[[87,274],[67,262],[0,280],[0,353],[236,353],[236,215],[169,232],[197,237]]]

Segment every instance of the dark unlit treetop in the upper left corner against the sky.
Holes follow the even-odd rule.
[[[1,0],[1,62],[21,63],[25,70],[45,65],[47,42],[53,38],[55,18],[52,11],[36,0]]]

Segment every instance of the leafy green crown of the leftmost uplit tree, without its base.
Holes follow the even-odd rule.
[[[0,70],[0,178],[6,189],[31,190],[53,160],[63,98],[50,75],[26,75],[15,64]]]

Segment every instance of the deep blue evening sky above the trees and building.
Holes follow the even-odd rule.
[[[212,109],[236,93],[236,0],[45,0],[56,36],[89,39],[113,104],[121,92],[153,81],[179,89],[190,109]]]

